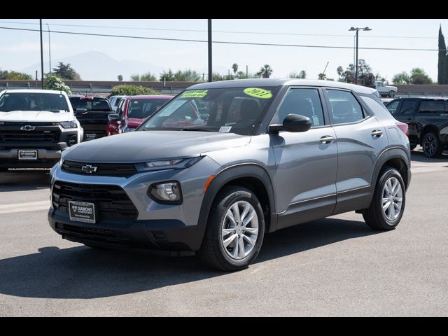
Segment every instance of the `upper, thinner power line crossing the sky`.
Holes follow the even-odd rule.
[[[20,25],[38,25],[34,22],[13,22],[13,21],[0,21],[0,23],[20,24]],[[174,29],[174,28],[145,28],[145,27],[118,27],[118,26],[98,26],[98,25],[68,25],[68,24],[55,24],[52,26],[60,27],[85,27],[85,28],[111,28],[111,29],[138,29],[138,30],[153,30],[153,31],[191,31],[191,32],[207,32],[207,30],[201,29]],[[268,31],[229,31],[229,30],[214,30],[214,33],[225,34],[255,34],[255,35],[290,35],[290,36],[328,36],[328,37],[351,37],[350,34],[304,34],[304,33],[272,33]],[[422,38],[422,39],[436,39],[437,37],[429,36],[387,36],[387,35],[366,35],[363,38]]]

